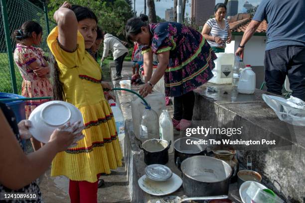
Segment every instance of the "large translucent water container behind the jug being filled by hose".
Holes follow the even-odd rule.
[[[162,110],[166,109],[165,95],[160,92],[154,91],[144,99],[151,105],[152,109],[157,113],[158,117],[162,113]],[[143,101],[137,95],[134,95],[132,101],[132,116],[134,132],[137,139],[140,139],[140,119],[145,109],[145,105],[142,102]]]

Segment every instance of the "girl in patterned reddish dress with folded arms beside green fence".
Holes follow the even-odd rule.
[[[39,46],[42,37],[42,27],[34,21],[24,22],[18,30],[13,33],[17,41],[14,51],[14,61],[23,78],[21,95],[26,98],[52,97],[52,86],[48,80],[50,68],[43,58],[44,52]],[[25,103],[25,115],[28,119],[32,110],[41,103],[49,100],[32,100]],[[42,143],[31,138],[34,150],[38,150]]]

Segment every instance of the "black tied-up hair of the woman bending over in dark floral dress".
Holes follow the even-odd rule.
[[[130,18],[125,26],[126,38],[129,43],[131,41],[132,35],[137,35],[142,32],[141,27],[148,27],[147,21],[149,17],[145,14],[140,14],[139,17]]]

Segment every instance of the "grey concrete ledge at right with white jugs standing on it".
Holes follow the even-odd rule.
[[[207,92],[208,86],[217,92]],[[253,169],[263,176],[262,183],[287,203],[305,202],[305,128],[280,121],[261,98],[266,92],[256,90],[254,95],[239,94],[232,101],[231,89],[228,85],[214,84],[198,88],[195,91],[193,120],[229,121],[231,126],[244,127],[244,139],[277,138],[282,145],[290,146],[288,150],[238,151],[237,157],[246,166],[247,156],[251,155]]]

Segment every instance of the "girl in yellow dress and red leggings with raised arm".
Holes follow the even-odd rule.
[[[99,174],[122,166],[115,121],[102,86],[111,88],[101,82],[99,65],[85,50],[97,37],[97,17],[89,8],[65,1],[54,19],[57,26],[47,39],[56,60],[54,97],[79,108],[85,138],[54,158],[51,176],[70,179],[71,203],[96,203]]]

